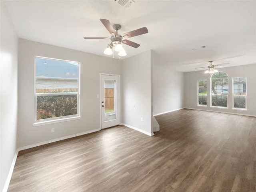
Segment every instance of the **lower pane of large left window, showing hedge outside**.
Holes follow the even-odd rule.
[[[77,95],[37,96],[36,119],[77,114]]]

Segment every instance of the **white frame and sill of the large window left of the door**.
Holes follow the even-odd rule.
[[[78,92],[36,93],[36,58],[78,63]],[[36,119],[37,118],[37,96],[40,96],[40,95],[44,95],[44,96],[47,96],[47,95],[77,95],[77,114],[37,120]],[[47,57],[41,57],[41,56],[34,56],[34,116],[35,117],[34,117],[33,126],[40,126],[40,125],[45,125],[45,124],[64,122],[64,121],[76,120],[76,119],[81,118],[80,117],[80,62],[70,61],[70,60],[62,60],[62,59],[56,59],[56,58],[47,58]]]

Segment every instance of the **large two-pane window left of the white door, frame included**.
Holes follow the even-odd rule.
[[[37,124],[80,116],[80,63],[35,58],[35,116]]]

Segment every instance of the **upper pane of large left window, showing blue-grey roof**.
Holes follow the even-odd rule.
[[[78,63],[36,58],[36,93],[78,92]]]

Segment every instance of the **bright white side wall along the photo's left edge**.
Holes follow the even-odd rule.
[[[6,191],[16,153],[18,37],[3,1],[1,7],[0,191]]]

